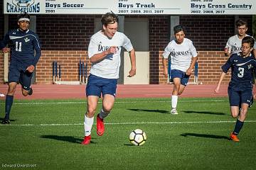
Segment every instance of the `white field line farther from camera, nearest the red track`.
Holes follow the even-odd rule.
[[[201,101],[201,100],[191,100],[191,101],[182,101],[178,102],[223,102],[225,100],[214,100],[214,101]],[[41,105],[41,104],[80,104],[86,103],[86,101],[68,101],[68,102],[30,102],[30,103],[14,103],[14,105]],[[99,101],[102,103],[102,101]],[[171,103],[170,101],[115,101],[114,103]],[[4,105],[5,103],[0,103],[0,105]]]

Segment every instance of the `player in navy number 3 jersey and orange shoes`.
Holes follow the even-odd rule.
[[[238,133],[245,122],[247,110],[252,100],[252,73],[256,71],[256,60],[252,55],[254,44],[255,40],[250,36],[242,39],[242,52],[231,55],[228,61],[221,67],[223,72],[215,89],[215,93],[218,94],[220,84],[231,68],[228,96],[231,115],[233,118],[237,118],[237,121],[235,129],[230,134],[230,139],[235,142],[239,142]]]

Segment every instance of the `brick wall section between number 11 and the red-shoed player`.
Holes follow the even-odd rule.
[[[42,56],[37,65],[37,84],[52,83],[52,63],[61,65],[62,81],[78,81],[80,60],[87,60],[87,47],[94,33],[94,16],[39,15],[36,18]]]

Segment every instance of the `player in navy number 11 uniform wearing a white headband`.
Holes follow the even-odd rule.
[[[41,45],[38,35],[28,30],[29,23],[29,14],[21,13],[21,15],[18,16],[18,29],[9,30],[4,36],[4,40],[0,41],[0,49],[3,52],[9,52],[11,50],[5,117],[1,122],[3,124],[10,123],[9,115],[17,84],[21,84],[23,96],[33,94],[31,78],[36,64],[41,57]],[[11,48],[6,47],[9,41],[11,41],[11,45],[13,45]]]

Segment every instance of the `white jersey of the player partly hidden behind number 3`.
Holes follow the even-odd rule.
[[[245,35],[245,37],[250,35]],[[240,51],[242,51],[242,39],[238,38],[238,35],[234,35],[230,38],[228,38],[228,42],[225,47],[228,47],[228,50],[230,52],[230,55],[236,54]],[[254,49],[256,49],[256,43],[253,46]]]

